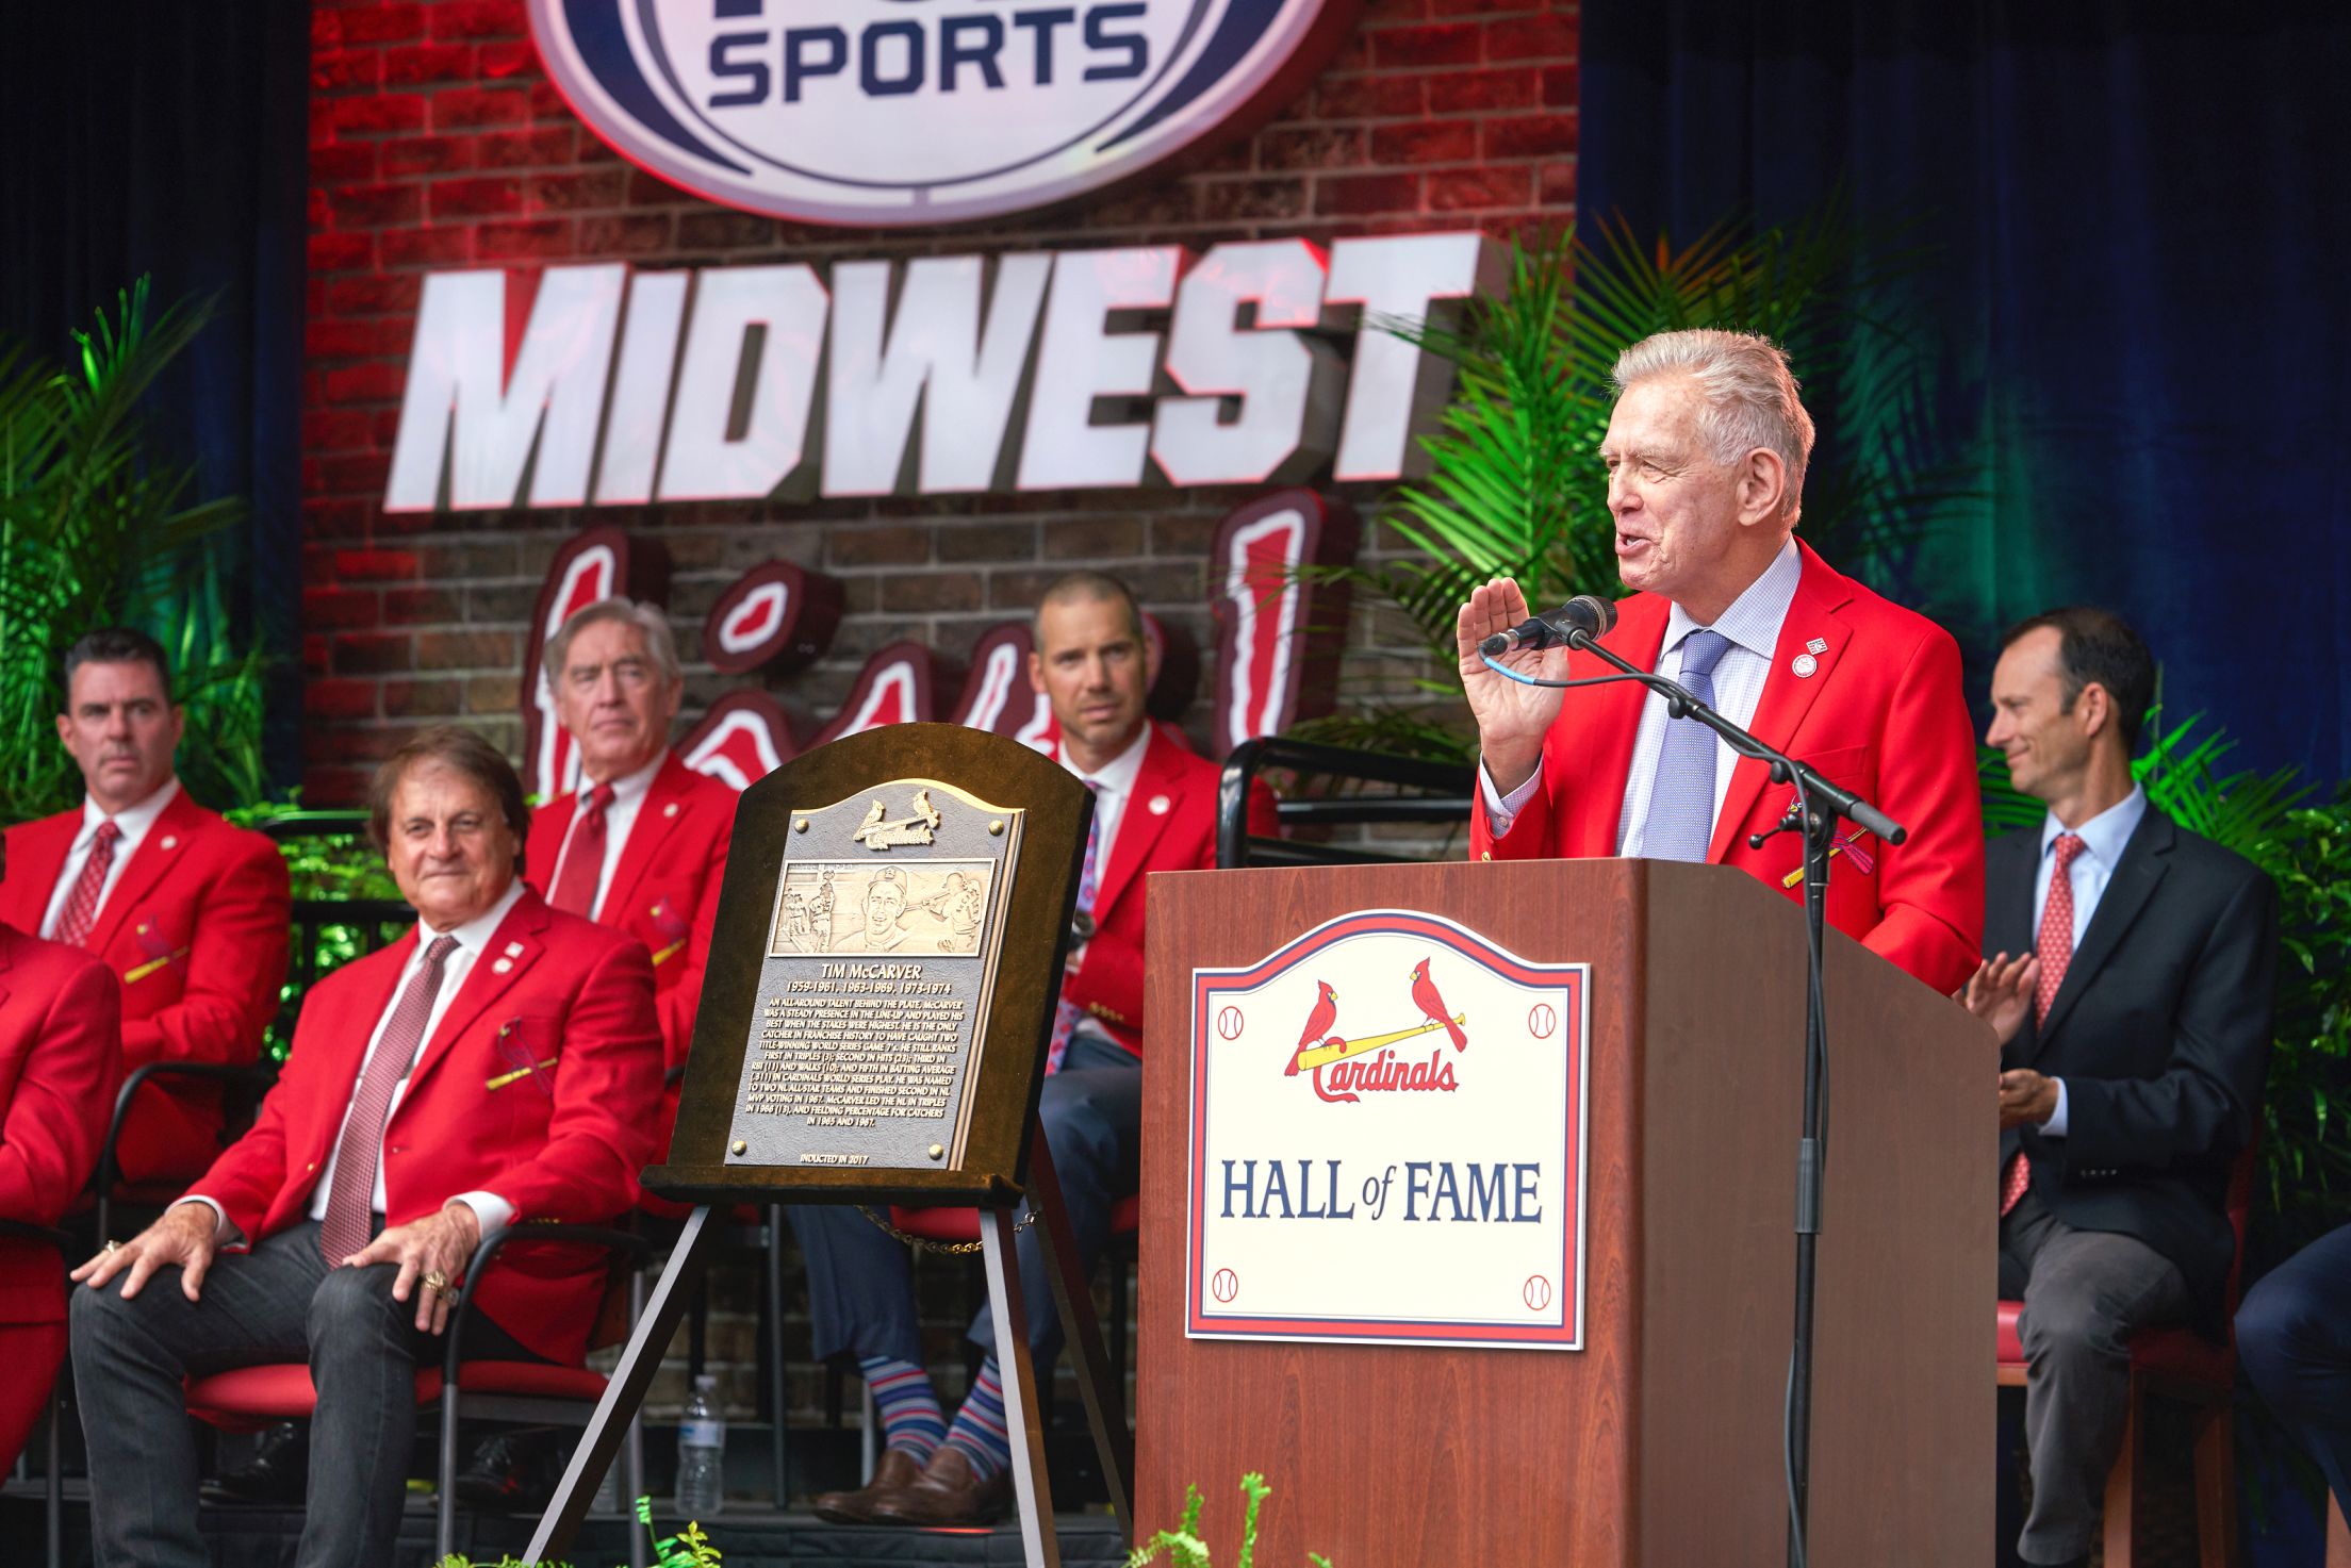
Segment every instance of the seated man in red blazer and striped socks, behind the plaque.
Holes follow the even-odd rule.
[[[1133,592],[1112,576],[1072,571],[1037,607],[1030,684],[1046,696],[1060,764],[1093,790],[1093,837],[1077,889],[1077,947],[1060,987],[1037,1119],[1053,1150],[1079,1269],[1110,1239],[1110,1211],[1138,1182],[1143,1128],[1143,879],[1215,865],[1218,766],[1143,698],[1152,656]],[[1251,827],[1272,835],[1274,799],[1251,799]],[[844,910],[846,919],[849,912]],[[997,1359],[980,1366],[947,1425],[922,1366],[907,1253],[853,1208],[792,1206],[809,1258],[809,1316],[818,1359],[856,1354],[882,1413],[875,1481],[816,1500],[851,1523],[973,1523],[1011,1500],[1011,1446]],[[1060,1314],[1034,1229],[1018,1237],[1020,1288],[1039,1387],[1051,1387]],[[987,1309],[971,1326],[994,1345]]]

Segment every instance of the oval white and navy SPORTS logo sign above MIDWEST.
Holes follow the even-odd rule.
[[[1359,0],[531,0],[571,108],[696,195],[813,223],[1058,202],[1295,96]]]

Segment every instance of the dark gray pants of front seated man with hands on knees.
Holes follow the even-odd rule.
[[[209,1568],[181,1380],[268,1361],[308,1361],[317,1387],[296,1566],[393,1561],[416,1436],[416,1363],[437,1361],[442,1342],[416,1331],[414,1298],[393,1300],[397,1267],[327,1269],[317,1229],[303,1222],[252,1253],[216,1255],[193,1302],[179,1267],[158,1269],[132,1300],[122,1300],[120,1276],[103,1291],[73,1291],[73,1380],[99,1568]],[[541,1359],[480,1312],[465,1354]]]

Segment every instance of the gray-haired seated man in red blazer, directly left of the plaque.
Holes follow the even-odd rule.
[[[670,750],[686,677],[656,607],[590,604],[548,639],[541,668],[555,689],[555,717],[578,748],[581,783],[531,813],[524,875],[552,907],[644,943],[663,1058],[679,1067],[703,999],[736,792]],[[670,1147],[675,1117],[672,1086],[656,1157]]]

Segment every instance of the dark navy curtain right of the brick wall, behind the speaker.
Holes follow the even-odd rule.
[[[1587,0],[1580,205],[1921,219],[1980,505],[1895,583],[1970,654],[2099,602],[2238,762],[2351,776],[2351,9]],[[1803,374],[1803,367],[1796,367]]]

